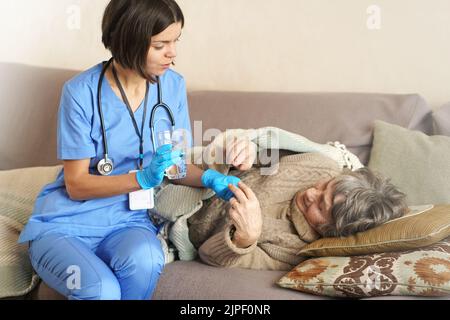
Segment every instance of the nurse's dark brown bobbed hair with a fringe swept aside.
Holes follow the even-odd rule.
[[[102,42],[115,61],[155,83],[146,72],[151,37],[173,23],[184,27],[184,16],[174,0],[111,0],[102,21]]]

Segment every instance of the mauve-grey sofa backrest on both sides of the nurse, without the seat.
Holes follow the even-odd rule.
[[[56,159],[61,89],[78,71],[0,63],[0,170],[49,166]],[[189,93],[191,122],[209,128],[280,127],[325,143],[340,141],[367,164],[373,120],[430,133],[419,95],[364,93]],[[206,141],[205,141],[206,142]]]

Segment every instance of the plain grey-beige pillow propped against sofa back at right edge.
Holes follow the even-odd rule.
[[[369,168],[389,177],[409,205],[450,203],[450,137],[375,121]]]

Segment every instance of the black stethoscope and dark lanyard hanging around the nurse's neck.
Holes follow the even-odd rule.
[[[98,105],[98,113],[100,115],[100,123],[102,127],[102,135],[103,135],[103,159],[99,161],[97,164],[97,170],[102,176],[109,176],[114,171],[114,163],[113,161],[108,157],[108,141],[106,138],[106,129],[105,129],[105,122],[103,118],[103,110],[102,110],[102,84],[103,79],[105,78],[105,73],[108,67],[110,66],[111,62],[114,58],[111,58],[106,64],[104,63],[104,67],[102,70],[102,73],[100,75],[100,79],[98,81],[98,90],[97,90],[97,105]],[[130,113],[131,120],[133,121],[134,128],[136,130],[136,134],[139,137],[140,140],[140,146],[139,146],[139,161],[140,161],[140,169],[142,170],[143,163],[144,163],[144,122],[147,114],[147,102],[148,102],[148,92],[149,92],[149,83],[147,82],[147,90],[145,93],[145,101],[144,101],[144,114],[143,114],[143,120],[142,120],[142,127],[141,132],[139,132],[136,119],[134,118],[133,111],[131,110],[131,106],[128,102],[127,96],[125,94],[125,91],[123,90],[123,87],[119,81],[119,78],[117,76],[116,70],[113,65],[113,74],[114,78],[116,80],[116,84],[119,87],[120,93],[122,95],[123,101],[125,102],[128,112]],[[162,90],[161,90],[161,82],[159,77],[156,77],[157,83],[158,83],[158,102],[153,106],[152,113],[150,115],[150,133],[151,133],[151,139],[153,144],[153,150],[156,152],[156,141],[155,141],[155,125],[154,125],[154,117],[156,114],[156,111],[158,108],[164,108],[166,109],[167,113],[170,117],[170,122],[172,124],[172,131],[175,130],[175,118],[173,116],[172,111],[170,108],[162,101]]]

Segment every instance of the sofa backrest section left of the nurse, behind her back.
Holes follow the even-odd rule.
[[[75,74],[0,63],[0,170],[58,164],[59,99],[64,82]]]

